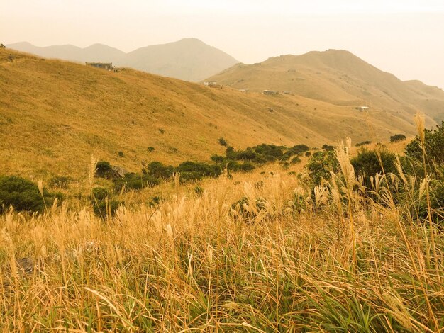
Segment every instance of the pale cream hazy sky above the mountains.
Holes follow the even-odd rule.
[[[185,37],[245,63],[344,49],[400,79],[444,88],[444,0],[0,1],[4,44],[128,52]]]

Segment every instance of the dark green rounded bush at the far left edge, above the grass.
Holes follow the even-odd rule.
[[[45,201],[38,186],[28,179],[18,176],[0,176],[0,212],[12,206],[17,211],[42,213],[45,210],[45,203],[52,205],[55,196],[44,189],[43,197]]]

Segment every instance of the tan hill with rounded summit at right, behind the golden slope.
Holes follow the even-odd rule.
[[[209,79],[236,89],[290,91],[338,106],[371,106],[410,120],[420,110],[433,121],[444,119],[444,92],[419,81],[401,81],[343,50],[272,57],[236,64]],[[371,112],[372,112],[371,111]]]

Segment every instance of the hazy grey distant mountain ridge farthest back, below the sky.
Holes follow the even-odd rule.
[[[113,62],[119,67],[131,67],[185,81],[201,81],[238,63],[225,52],[206,45],[196,38],[184,38],[174,43],[140,47],[129,53],[103,44],[94,44],[85,48],[73,45],[37,47],[22,42],[6,46],[40,57],[74,62]]]

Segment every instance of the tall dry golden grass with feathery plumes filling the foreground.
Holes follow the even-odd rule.
[[[10,211],[0,217],[0,327],[443,331],[444,240],[431,238],[442,234],[404,214],[384,188],[384,201],[364,200],[349,158],[338,149],[345,174],[314,198],[287,174],[261,184],[221,177],[202,196],[175,176],[157,207],[120,208],[105,221],[69,203],[45,215]],[[243,207],[232,207],[240,197]]]

